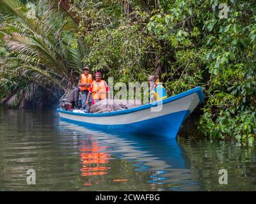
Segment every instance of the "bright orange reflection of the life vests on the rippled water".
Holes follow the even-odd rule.
[[[100,147],[98,143],[93,140],[82,141],[80,156],[83,162],[83,177],[108,173],[107,170],[110,167],[104,166],[104,164],[109,163],[110,155],[106,152],[99,152],[106,148],[107,147]]]

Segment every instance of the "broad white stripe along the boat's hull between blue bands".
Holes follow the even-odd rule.
[[[88,122],[93,124],[102,125],[118,125],[118,124],[131,124],[134,122],[140,122],[142,120],[153,119],[159,116],[168,115],[170,113],[180,112],[182,110],[189,110],[193,112],[198,105],[200,99],[198,94],[193,93],[184,98],[177,99],[170,103],[163,104],[163,108],[159,112],[151,112],[150,108],[145,110],[138,110],[136,112],[127,113],[124,115],[114,115],[108,117],[87,117],[82,115],[72,115],[68,113],[61,113],[60,117],[70,120],[76,120],[79,122]],[[93,114],[93,113],[92,113]]]

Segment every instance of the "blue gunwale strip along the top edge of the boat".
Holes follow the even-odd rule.
[[[129,108],[126,110],[120,110],[120,111],[116,111],[116,112],[108,112],[108,113],[74,113],[74,112],[69,112],[66,110],[60,110],[59,108],[57,109],[58,112],[60,113],[66,113],[66,114],[70,114],[70,115],[79,115],[79,116],[84,116],[84,117],[108,117],[108,116],[115,116],[115,115],[125,115],[128,113],[132,113],[132,112],[138,112],[140,110],[145,110],[148,108],[152,108],[154,106],[157,106],[161,103],[165,104],[165,103],[170,103],[172,101],[176,101],[177,99],[180,98],[184,98],[186,96],[189,96],[191,94],[194,93],[198,94],[198,98],[199,98],[199,103],[202,103],[202,101],[204,100],[204,93],[201,89],[201,87],[195,87],[193,89],[189,89],[188,91],[182,92],[180,94],[177,94],[175,96],[171,96],[169,98],[163,99],[163,101],[156,101],[154,103],[148,103],[146,105],[141,105],[138,107],[134,107],[134,108]]]

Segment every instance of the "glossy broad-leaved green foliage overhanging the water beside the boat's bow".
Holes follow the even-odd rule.
[[[206,100],[198,130],[212,138],[253,140],[256,4],[228,1],[228,18],[221,19],[220,3],[162,2],[161,10],[150,18],[148,31],[175,55],[170,72],[164,73],[171,78],[168,87],[180,92],[188,84],[202,85]]]

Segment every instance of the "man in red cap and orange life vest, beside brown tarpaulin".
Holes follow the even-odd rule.
[[[102,99],[106,99],[109,92],[108,84],[101,79],[101,73],[95,73],[95,80],[92,82],[92,85],[87,96],[86,105],[89,103],[90,96],[92,95],[92,104],[94,105]]]

